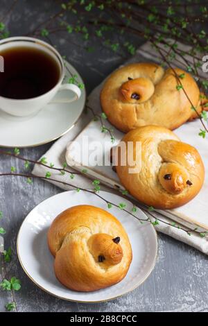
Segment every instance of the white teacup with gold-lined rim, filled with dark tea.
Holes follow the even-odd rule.
[[[33,37],[9,37],[0,41],[0,53],[1,51],[14,48],[15,46],[26,46],[27,48],[31,47],[32,49],[40,49],[41,51],[45,51],[57,62],[57,65],[60,68],[60,78],[53,88],[37,97],[15,99],[0,96],[1,110],[16,117],[28,117],[37,113],[44,107],[44,105],[48,103],[70,103],[77,101],[78,98],[80,98],[81,91],[78,86],[69,83],[62,84],[65,74],[64,61],[60,53],[58,53],[53,46]],[[3,74],[3,72],[0,72],[0,74]],[[57,94],[60,90],[69,91],[67,98],[60,98],[60,96],[57,99],[55,98],[55,94]]]

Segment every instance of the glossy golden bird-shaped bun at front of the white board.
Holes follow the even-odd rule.
[[[122,141],[133,142],[134,155],[136,141],[141,141],[141,170],[129,173],[132,166],[121,166],[121,157],[128,153],[121,150],[116,166],[122,185],[141,203],[171,209],[188,203],[198,194],[205,179],[201,157],[196,148],[180,141],[171,130],[140,127],[128,132]]]

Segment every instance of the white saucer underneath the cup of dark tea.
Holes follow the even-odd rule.
[[[69,62],[65,64],[71,74],[78,76],[78,82],[83,83],[78,71]],[[71,77],[69,71],[66,69],[66,80]],[[86,92],[82,89],[82,95],[78,101],[51,103],[35,116],[23,119],[12,117],[0,110],[0,146],[31,147],[58,139],[69,131],[80,117],[85,107],[85,98]]]

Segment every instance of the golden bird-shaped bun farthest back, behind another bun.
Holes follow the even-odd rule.
[[[197,108],[200,91],[187,72],[176,68],[191,103]],[[128,80],[132,78],[132,80]],[[183,90],[177,90],[172,69],[153,63],[135,63],[119,68],[107,78],[101,91],[101,107],[107,119],[123,132],[156,125],[175,129],[195,116]],[[199,108],[200,111],[200,108]]]

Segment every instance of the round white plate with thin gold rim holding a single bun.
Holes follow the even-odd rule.
[[[99,194],[117,205],[125,203],[125,209],[129,212],[132,209],[132,204],[120,196],[105,191],[100,191]],[[133,252],[128,274],[120,283],[88,293],[71,291],[58,282],[53,272],[54,258],[46,241],[47,231],[55,216],[68,207],[80,204],[101,207],[114,214],[128,233]],[[139,208],[135,214],[146,219],[146,215]],[[28,214],[17,237],[17,254],[25,273],[42,290],[64,300],[102,302],[132,291],[150,275],[157,257],[157,233],[150,223],[141,224],[137,218],[119,208],[107,209],[107,204],[94,194],[86,191],[66,191],[44,200]]]

